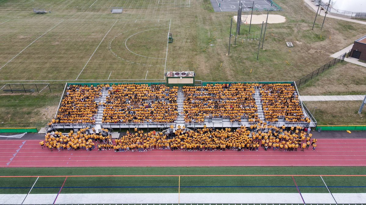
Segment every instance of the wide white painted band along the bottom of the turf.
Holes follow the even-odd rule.
[[[322,185],[323,186],[323,185]],[[325,187],[324,187],[325,189]],[[351,189],[352,190],[352,189]],[[23,202],[24,200],[24,202]],[[0,194],[0,204],[362,204],[366,193]]]

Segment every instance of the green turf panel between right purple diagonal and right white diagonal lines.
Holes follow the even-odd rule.
[[[320,177],[294,177],[301,193],[328,193]],[[292,182],[294,183],[294,182]],[[294,183],[295,185],[295,183]],[[321,187],[303,187],[303,186],[321,186]]]

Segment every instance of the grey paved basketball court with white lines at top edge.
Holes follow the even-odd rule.
[[[239,4],[242,4],[242,11],[251,11],[254,2],[254,11],[280,11],[279,7],[272,0],[210,0],[215,12],[238,11]]]

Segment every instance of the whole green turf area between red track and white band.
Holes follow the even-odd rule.
[[[58,193],[63,183],[61,193],[64,194],[297,193],[297,188],[302,193],[328,193],[326,186],[332,193],[366,192],[365,176],[326,176],[362,175],[365,174],[364,167],[55,167],[1,168],[0,171],[1,176],[17,176],[0,177],[0,194],[27,194],[39,176],[41,177],[31,190],[32,194]],[[216,176],[199,176],[206,174]],[[78,175],[93,175],[93,177],[78,177]]]

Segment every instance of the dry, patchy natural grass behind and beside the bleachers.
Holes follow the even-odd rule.
[[[194,70],[196,80],[203,81],[293,81],[329,62],[330,54],[361,36],[359,24],[331,18],[323,31],[321,18],[311,30],[314,12],[303,1],[277,3],[284,11],[275,13],[285,16],[286,22],[268,24],[264,49],[256,60],[258,40],[240,40],[247,35],[247,24],[242,25],[236,46],[231,39],[231,52],[226,55],[235,12],[214,13],[209,0],[0,1],[0,84],[161,82],[164,71],[172,70]],[[117,6],[123,7],[122,14],[111,13],[111,7]],[[51,13],[37,15],[32,12],[35,7]],[[260,29],[259,24],[251,27],[252,32]],[[168,31],[174,38],[169,44]],[[285,46],[288,41],[295,45],[291,53]],[[342,63],[300,88],[300,94],[361,94],[363,70]],[[22,101],[17,97],[10,102]],[[40,109],[41,97],[30,97],[22,111]],[[58,100],[46,102],[49,107],[58,104]],[[9,106],[0,105],[7,109],[0,113],[2,127],[38,127],[49,120],[33,113],[34,120],[21,123],[15,120],[22,117],[16,105]]]

